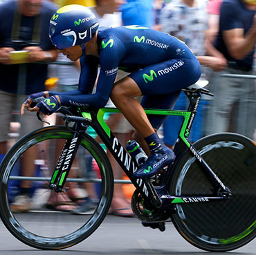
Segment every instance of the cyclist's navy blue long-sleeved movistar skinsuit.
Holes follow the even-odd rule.
[[[141,26],[105,28],[98,30],[97,41],[100,58],[86,55],[80,59],[78,90],[50,93],[60,95],[63,106],[104,107],[120,68],[131,73],[129,77],[145,95],[143,107],[173,108],[181,88],[194,84],[201,75],[200,64],[188,46],[163,32]],[[97,89],[90,94],[98,64]],[[158,124],[153,126],[157,128]]]

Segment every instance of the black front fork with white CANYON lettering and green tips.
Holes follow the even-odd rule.
[[[66,189],[63,187],[83,135],[84,132],[75,131],[73,138],[66,140],[49,184],[50,189],[54,190],[55,192],[66,191]]]

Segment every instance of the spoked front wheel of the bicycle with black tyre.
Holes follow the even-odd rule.
[[[26,245],[38,249],[62,249],[76,245],[89,237],[100,226],[109,211],[113,196],[111,165],[102,147],[87,134],[84,134],[84,138],[80,142],[70,171],[70,174],[75,172],[77,176],[81,177],[75,176],[73,182],[66,182],[64,186],[72,185],[74,187],[75,185],[76,189],[70,189],[65,193],[55,193],[48,189],[49,180],[64,142],[71,138],[73,138],[73,133],[64,126],[38,129],[21,138],[8,151],[1,163],[1,220],[13,236]],[[34,164],[32,164],[33,173],[30,174],[30,177],[41,179],[28,180],[30,189],[27,191],[29,191],[32,203],[29,211],[19,214],[17,212],[21,212],[21,209],[17,209],[13,201],[19,195],[18,187],[21,185],[21,180],[17,179],[22,177],[21,171],[24,165],[22,160],[26,160],[24,153],[27,153],[28,149],[30,149],[30,157],[33,152],[35,153]],[[33,159],[30,158],[29,163],[31,164],[31,162]],[[28,165],[26,164],[27,169]],[[89,182],[84,189],[82,186],[84,178],[88,178],[89,174],[89,177],[98,179],[100,183]],[[74,205],[77,205],[77,202],[71,200],[70,192],[72,190],[82,193],[80,201],[78,201],[82,203],[86,202],[85,191],[89,191],[89,187],[98,193],[98,199],[94,199],[90,204],[90,211],[86,211],[83,215],[63,211],[66,207],[74,209]],[[68,198],[68,202],[66,198]],[[72,199],[75,200],[75,198]]]

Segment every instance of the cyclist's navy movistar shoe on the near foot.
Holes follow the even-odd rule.
[[[174,152],[165,148],[161,151],[153,151],[150,153],[149,158],[146,162],[134,172],[134,177],[136,178],[150,178],[158,173],[163,167],[166,167],[168,164],[171,164],[175,159]]]

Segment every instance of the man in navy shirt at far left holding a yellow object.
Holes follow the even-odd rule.
[[[26,95],[44,91],[47,64],[35,62],[49,62],[57,57],[57,50],[53,49],[48,38],[48,23],[55,10],[54,3],[44,0],[9,0],[0,6],[1,154],[5,154],[8,149],[12,111],[24,101]],[[19,133],[25,135],[40,126],[42,124],[36,115],[27,112],[21,119]],[[30,176],[35,170],[33,159],[36,155],[37,151],[28,150],[22,159],[22,176]],[[22,165],[26,165],[26,168]],[[30,208],[30,183],[20,183],[21,196],[17,196],[12,205],[14,211],[26,211]]]

